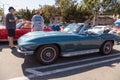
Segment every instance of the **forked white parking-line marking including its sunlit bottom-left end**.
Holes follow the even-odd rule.
[[[110,58],[110,59],[102,60],[102,61],[99,61],[99,62],[77,65],[77,66],[72,66],[72,67],[67,67],[67,68],[55,69],[55,70],[52,70],[52,71],[46,71],[46,72],[37,71],[38,69],[47,69],[47,68],[51,68],[51,67],[55,67],[55,66],[72,64],[72,63],[77,63],[77,62],[84,62],[84,61],[89,61],[91,59],[95,60],[95,59],[101,59],[101,58],[108,58],[108,57],[113,57],[113,56],[118,56],[118,55],[120,55],[120,53],[113,54],[113,55],[107,55],[107,56],[101,56],[101,57],[95,57],[95,58],[89,58],[89,59],[84,59],[84,60],[79,60],[79,61],[53,64],[53,65],[48,65],[48,66],[43,66],[43,67],[28,68],[28,69],[26,69],[26,71],[32,73],[32,75],[28,75],[26,77],[24,77],[24,76],[23,77],[17,77],[17,78],[13,78],[13,79],[9,79],[9,80],[28,80],[28,78],[46,76],[46,75],[55,74],[55,73],[59,73],[59,72],[64,72],[64,71],[79,69],[79,68],[83,68],[83,67],[89,67],[89,66],[92,66],[92,65],[98,65],[98,64],[101,64],[101,63],[116,61],[116,60],[120,60],[120,57]]]

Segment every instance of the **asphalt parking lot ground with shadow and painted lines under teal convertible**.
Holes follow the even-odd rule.
[[[9,49],[7,42],[0,44],[0,80],[120,80],[120,45],[110,55],[60,57],[41,65],[33,56]]]

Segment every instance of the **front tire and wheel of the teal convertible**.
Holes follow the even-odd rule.
[[[59,49],[55,45],[44,45],[41,46],[37,52],[36,57],[42,64],[54,63],[59,56]]]

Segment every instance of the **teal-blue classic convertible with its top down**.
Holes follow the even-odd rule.
[[[100,52],[110,54],[120,37],[109,33],[94,33],[87,24],[69,24],[63,31],[29,32],[18,39],[18,52],[36,55],[43,64],[51,64],[59,56],[77,56]]]

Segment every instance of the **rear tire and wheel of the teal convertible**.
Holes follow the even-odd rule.
[[[112,50],[113,50],[112,41],[106,41],[100,48],[100,54],[108,55],[112,52]]]

